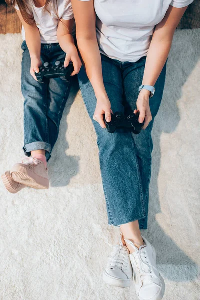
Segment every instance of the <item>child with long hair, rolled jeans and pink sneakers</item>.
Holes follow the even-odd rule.
[[[47,161],[57,140],[59,124],[69,95],[70,82],[52,78],[37,82],[35,72],[44,62],[57,60],[77,74],[81,61],[72,37],[74,25],[70,0],[9,0],[22,22],[21,89],[24,101],[24,147],[26,158],[2,175],[11,193],[26,186],[49,186]]]

